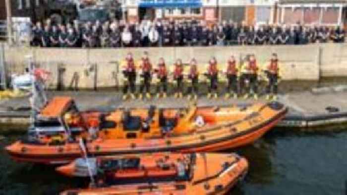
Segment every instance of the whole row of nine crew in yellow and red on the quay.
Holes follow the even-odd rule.
[[[253,95],[254,99],[258,99],[258,74],[260,73],[260,68],[257,65],[254,55],[250,55],[248,61],[242,66],[237,65],[235,58],[231,55],[225,70],[218,68],[217,60],[213,57],[209,61],[206,71],[202,74],[198,71],[198,65],[195,59],[190,61],[189,71],[187,73],[184,73],[183,63],[180,59],[177,59],[174,63],[172,72],[167,69],[163,58],[159,59],[158,66],[154,68],[147,52],[144,52],[139,64],[137,69],[132,54],[127,54],[122,66],[122,73],[125,79],[123,83],[123,100],[129,97],[131,99],[137,98],[136,73],[138,71],[141,78],[138,91],[139,99],[143,99],[144,96],[148,99],[152,98],[152,80],[156,80],[157,98],[166,98],[168,95],[169,77],[172,77],[174,82],[173,96],[175,98],[183,98],[184,95],[187,95],[188,99],[193,98],[196,100],[199,94],[200,76],[205,76],[208,79],[207,98],[218,98],[220,74],[227,78],[227,87],[224,89],[225,99],[229,99],[231,96],[237,98],[241,94],[244,94],[244,98]],[[277,99],[280,66],[276,54],[272,55],[269,65],[263,71],[266,73],[268,79],[266,98]],[[188,83],[186,92],[183,91],[183,83]]]

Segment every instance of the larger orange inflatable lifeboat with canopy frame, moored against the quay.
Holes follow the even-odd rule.
[[[219,151],[249,144],[287,113],[280,103],[182,109],[117,109],[79,112],[69,97],[50,101],[28,136],[6,147],[18,161],[62,164],[81,155]]]

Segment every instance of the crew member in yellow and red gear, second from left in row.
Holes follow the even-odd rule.
[[[151,98],[150,88],[151,88],[151,77],[152,77],[152,64],[148,58],[148,53],[144,52],[143,57],[141,58],[141,85],[139,91],[139,99],[143,97],[143,91],[146,92],[146,97]]]

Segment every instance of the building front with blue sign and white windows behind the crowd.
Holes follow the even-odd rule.
[[[275,21],[275,0],[122,0],[122,8],[130,21],[170,18],[246,24]]]

